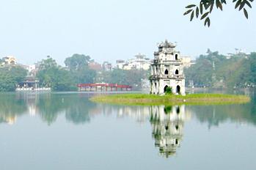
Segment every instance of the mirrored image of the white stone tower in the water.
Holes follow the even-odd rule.
[[[152,135],[162,156],[175,155],[183,136],[184,121],[189,117],[185,106],[151,106]]]

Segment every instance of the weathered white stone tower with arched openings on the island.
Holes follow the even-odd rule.
[[[173,94],[186,95],[183,62],[175,47],[175,44],[167,40],[158,45],[151,64],[150,94],[164,95],[169,86]]]

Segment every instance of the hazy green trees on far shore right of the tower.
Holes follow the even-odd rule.
[[[208,50],[184,70],[186,86],[244,88],[256,84],[256,53],[224,56]]]

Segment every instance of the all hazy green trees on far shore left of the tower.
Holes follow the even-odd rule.
[[[93,60],[90,56],[73,54],[65,59],[65,67],[47,56],[38,62],[36,78],[40,86],[51,87],[54,91],[76,91],[77,84],[109,83],[127,84],[133,89],[141,88],[141,79],[148,78],[150,71],[120,70],[96,71],[89,67]],[[18,83],[26,78],[27,70],[19,65],[5,65],[0,67],[0,91],[12,92]]]

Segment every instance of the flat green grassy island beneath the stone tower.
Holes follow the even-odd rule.
[[[147,95],[147,94],[119,94],[98,95],[90,100],[97,103],[112,103],[125,105],[214,105],[248,103],[250,97],[244,95],[223,94],[191,94],[191,95]]]

